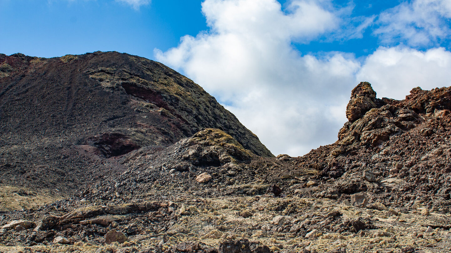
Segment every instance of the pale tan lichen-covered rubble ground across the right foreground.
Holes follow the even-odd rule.
[[[111,245],[90,245],[76,242],[74,245],[32,247],[5,247],[0,245],[0,252],[110,252],[110,249],[120,252],[139,252],[143,248],[154,248],[162,243],[163,248],[171,248],[183,241],[198,241],[216,247],[227,239],[246,238],[250,241],[260,241],[274,252],[302,252],[305,248],[325,253],[337,248],[346,248],[347,253],[371,252],[389,253],[401,252],[402,248],[412,246],[419,252],[442,253],[451,248],[451,232],[443,228],[433,229],[426,233],[428,225],[450,225],[451,215],[417,211],[399,213],[389,216],[388,211],[378,211],[367,208],[357,208],[337,204],[330,199],[306,199],[288,196],[274,197],[224,197],[221,199],[198,199],[194,204],[182,204],[185,198],[180,197],[174,202],[179,208],[176,210],[181,217],[178,222],[168,227],[164,234],[154,235],[149,231],[130,236],[129,242]],[[191,200],[196,196],[191,196]],[[284,211],[277,211],[278,206],[287,206]],[[289,232],[266,231],[262,228],[271,225],[276,216],[285,216],[281,228],[295,226],[302,223],[302,217],[310,214],[313,217],[324,217],[326,213],[339,211],[342,219],[358,217],[377,218],[377,229],[364,230],[364,233],[326,233],[317,239],[305,239]],[[250,217],[243,215],[248,212]],[[244,216],[244,217],[243,217]],[[239,228],[236,230],[235,228]],[[222,230],[222,231],[221,231]],[[232,232],[234,230],[235,232]]]

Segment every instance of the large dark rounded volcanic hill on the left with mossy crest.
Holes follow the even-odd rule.
[[[15,187],[2,194],[20,196],[3,210],[69,196],[125,169],[103,158],[165,148],[203,128],[272,156],[200,86],[152,60],[117,52],[0,54],[0,72],[0,185]]]

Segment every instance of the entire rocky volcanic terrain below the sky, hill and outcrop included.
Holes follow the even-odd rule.
[[[122,65],[114,63],[112,56]],[[371,85],[362,82],[352,90],[346,108],[349,122],[336,143],[302,157],[274,158],[256,145],[258,139],[247,130],[226,128],[231,124],[226,118],[211,121],[216,124],[213,128],[201,127],[211,123],[202,118],[219,109],[210,102],[192,112],[183,109],[191,108],[195,100],[183,95],[194,85],[174,72],[168,74],[170,70],[159,63],[97,53],[43,59],[53,67],[44,67],[45,63],[33,67],[36,58],[18,61],[20,57],[24,56],[0,65],[1,80],[15,80],[0,93],[2,115],[8,116],[1,124],[9,129],[4,131],[7,137],[1,137],[3,184],[23,174],[40,177],[39,182],[47,184],[44,188],[59,187],[68,182],[42,175],[51,171],[60,175],[57,180],[73,179],[75,174],[65,166],[74,168],[78,176],[99,176],[60,200],[45,195],[52,200],[46,205],[3,212],[0,251],[446,252],[451,246],[451,87],[414,88],[406,99],[394,100],[377,99]],[[32,122],[19,117],[11,108],[27,108],[21,100],[29,92],[25,85],[31,83],[29,76],[52,73],[52,80],[66,80],[51,71],[55,66],[75,69],[77,80],[88,80],[91,89],[67,88],[64,94],[98,93],[94,100],[101,111],[83,116],[74,103],[67,107],[72,108],[71,115],[82,116],[64,116],[67,122],[62,126],[39,122],[26,110]],[[21,77],[24,70],[28,72]],[[21,82],[19,89],[20,80],[28,81]],[[54,86],[49,89],[59,87]],[[197,99],[213,101],[196,92],[189,90]],[[19,102],[12,99],[14,94]],[[81,99],[86,108],[93,106],[88,97]],[[36,98],[32,103],[45,100]],[[44,103],[36,114],[67,112],[65,106],[55,104]],[[117,112],[129,114],[115,117]],[[107,115],[111,120],[104,121]],[[197,119],[198,115],[203,116]],[[13,129],[21,120],[43,127],[33,130],[34,136],[27,137],[21,129],[15,135]],[[83,128],[78,127],[80,122]],[[26,142],[21,144],[20,138]],[[63,142],[55,144],[55,140]],[[47,151],[37,152],[40,147]],[[31,159],[48,164],[15,173],[27,168],[24,163]],[[42,194],[11,189],[28,199]]]

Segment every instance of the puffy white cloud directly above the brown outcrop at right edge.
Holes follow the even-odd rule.
[[[414,87],[431,90],[451,86],[451,52],[444,48],[422,52],[382,47],[368,56],[356,77],[369,81],[379,98],[405,99]]]

